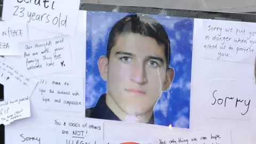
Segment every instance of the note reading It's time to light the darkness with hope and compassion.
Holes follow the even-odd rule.
[[[42,76],[33,95],[42,109],[82,112],[83,77]]]

